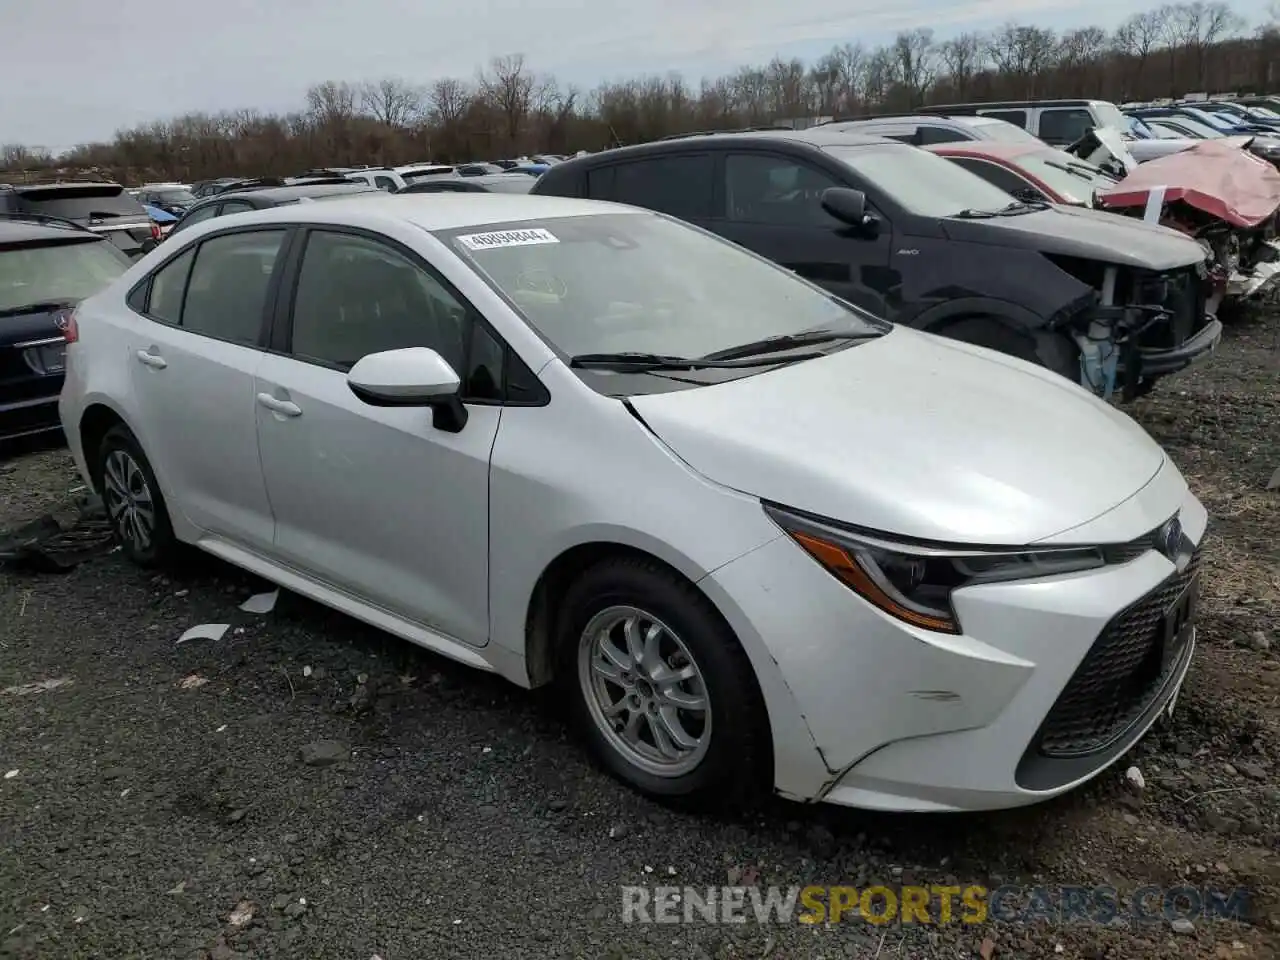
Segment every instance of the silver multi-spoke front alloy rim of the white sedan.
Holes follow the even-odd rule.
[[[591,719],[630,764],[681,777],[707,755],[712,709],[703,673],[653,614],[609,607],[591,617],[579,641],[577,676]]]

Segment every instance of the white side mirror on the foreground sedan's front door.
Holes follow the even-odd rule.
[[[439,430],[458,433],[467,422],[458,398],[462,381],[429,347],[369,353],[347,372],[347,385],[372,407],[430,407]]]

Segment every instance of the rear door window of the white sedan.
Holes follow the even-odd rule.
[[[182,326],[232,343],[256,344],[266,291],[284,230],[211,237],[196,251],[182,306]]]

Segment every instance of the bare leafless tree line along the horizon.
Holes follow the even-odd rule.
[[[474,79],[328,81],[302,109],[188,114],[120,131],[61,157],[0,147],[8,179],[92,172],[122,182],[289,175],[319,166],[457,163],[570,154],[692,131],[905,111],[960,100],[1091,97],[1124,102],[1193,91],[1280,86],[1280,6],[1252,28],[1221,0],[1138,13],[1115,31],[1006,23],[938,41],[928,28],[891,44],[833,46],[814,63],[774,58],[694,86],[678,74],[591,91],[539,73],[521,54]]]

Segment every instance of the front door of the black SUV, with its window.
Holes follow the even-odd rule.
[[[822,209],[822,193],[844,187],[824,170],[773,154],[724,157],[724,219],[716,230],[837,297],[892,319],[886,294],[892,228],[855,233]],[[868,212],[872,211],[868,207]]]

